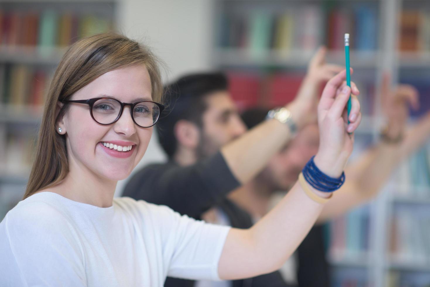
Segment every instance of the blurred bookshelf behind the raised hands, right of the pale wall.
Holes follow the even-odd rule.
[[[211,51],[213,68],[229,75],[240,109],[271,108],[291,100],[316,47],[329,48],[328,62],[344,65],[343,34],[351,34],[353,80],[360,88],[363,120],[356,133],[353,157],[378,140],[384,123],[379,89],[384,71],[393,83],[410,83],[421,95],[419,116],[430,100],[430,3],[424,0],[216,0]],[[418,19],[418,20],[417,20]],[[375,200],[335,219],[328,259],[333,286],[429,286],[430,253],[424,241],[430,226],[430,184],[410,178],[416,157],[408,159]],[[415,161],[414,161],[415,158]],[[353,160],[353,158],[352,158]],[[411,162],[412,161],[412,162]],[[421,167],[429,163],[421,160]],[[430,169],[421,179],[430,178]],[[402,179],[402,182],[399,180]],[[393,225],[412,225],[417,242],[408,249],[393,246]],[[422,231],[421,233],[419,231]],[[428,231],[430,234],[430,231]],[[430,238],[427,238],[427,243]],[[399,240],[398,240],[399,241]],[[428,245],[428,244],[427,244]],[[396,256],[398,248],[401,256]],[[399,252],[397,252],[399,253]],[[421,254],[420,254],[421,253]],[[415,260],[414,260],[415,259]]]

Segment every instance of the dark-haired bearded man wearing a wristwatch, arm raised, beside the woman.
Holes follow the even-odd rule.
[[[299,129],[316,120],[320,84],[342,69],[327,64],[325,54],[325,48],[316,52],[298,95],[286,105],[286,108],[303,107],[303,114],[297,119],[301,121]],[[353,93],[358,94],[354,83]],[[228,93],[224,74],[214,72],[181,77],[168,86],[166,97],[172,108],[157,124],[157,132],[169,161],[151,164],[135,173],[126,184],[123,196],[164,204],[181,214],[202,219],[203,213],[252,179],[270,157],[292,139],[288,137],[280,143],[278,135],[288,127],[269,129],[270,120],[246,133]],[[350,116],[353,114],[354,120],[361,117],[355,112]],[[235,164],[233,160],[236,160]],[[235,222],[230,224],[243,228],[241,221],[237,225]],[[279,272],[233,282],[233,285],[247,286],[250,282],[250,286],[286,286]],[[168,278],[165,286],[194,286],[194,282]]]

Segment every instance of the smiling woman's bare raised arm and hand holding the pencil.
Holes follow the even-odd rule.
[[[361,120],[359,103],[353,96],[356,120],[347,124],[345,105],[350,89],[342,71],[327,83],[318,105],[320,147],[314,162],[328,176],[339,177],[353,149],[353,132]],[[314,195],[329,194],[313,189]],[[294,252],[315,223],[323,204],[310,199],[298,182],[266,216],[252,228],[232,228],[218,264],[222,279],[252,277],[277,270]]]

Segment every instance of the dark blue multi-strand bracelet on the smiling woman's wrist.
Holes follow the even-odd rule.
[[[341,177],[337,179],[326,175],[316,167],[313,162],[314,157],[315,156],[307,162],[302,171],[307,183],[309,183],[313,188],[324,192],[333,192],[339,189],[345,182],[345,173],[342,173]]]

